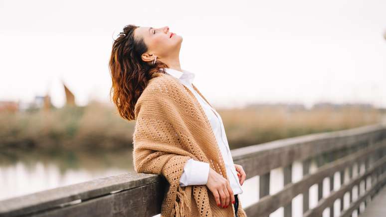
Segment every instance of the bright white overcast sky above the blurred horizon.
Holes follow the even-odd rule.
[[[385,0],[0,0],[0,100],[62,78],[79,105],[108,102],[113,38],[126,24],[182,35],[180,61],[214,106],[320,101],[386,106]]]

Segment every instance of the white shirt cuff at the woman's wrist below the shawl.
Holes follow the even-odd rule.
[[[180,186],[206,185],[209,176],[209,164],[201,161],[187,161],[180,178]]]

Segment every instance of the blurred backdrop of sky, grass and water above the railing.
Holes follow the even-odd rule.
[[[182,68],[231,149],[385,122],[385,8],[0,0],[0,200],[134,171],[135,121],[109,100],[112,42],[127,24],[182,35]]]

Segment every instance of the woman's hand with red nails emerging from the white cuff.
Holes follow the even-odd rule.
[[[222,177],[212,168],[209,168],[209,175],[206,186],[212,192],[217,206],[227,208],[230,205],[230,202],[234,204],[234,195],[228,180]]]

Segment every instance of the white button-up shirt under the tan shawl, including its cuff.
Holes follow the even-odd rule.
[[[232,155],[230,153],[228,140],[225,135],[224,125],[220,115],[212,108],[194,89],[192,82],[195,74],[193,72],[183,70],[182,72],[176,69],[165,68],[166,72],[180,80],[193,95],[197,98],[206,117],[212,127],[216,137],[217,144],[224,159],[226,174],[229,178],[229,185],[232,188],[233,194],[242,194],[240,182],[237,177],[237,172],[233,164]],[[201,161],[189,159],[184,167],[184,172],[180,178],[180,186],[190,185],[206,185],[209,175],[209,164]]]

